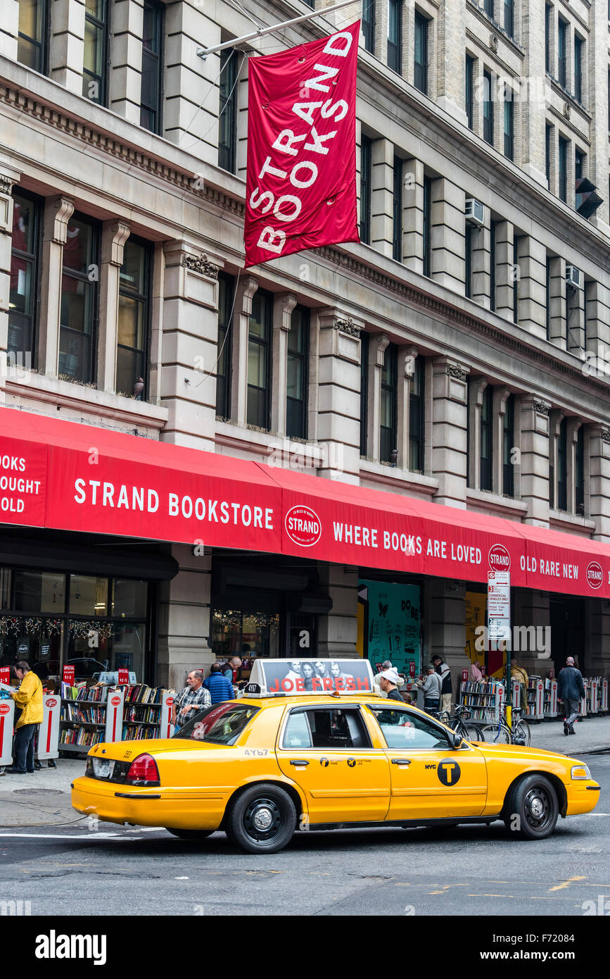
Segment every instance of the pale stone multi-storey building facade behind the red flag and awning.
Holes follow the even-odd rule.
[[[364,0],[362,243],[244,273],[248,58],[360,5],[197,48],[308,10],[5,0],[3,403],[610,543],[605,5]],[[155,657],[180,685],[218,652],[215,555],[171,555]],[[356,655],[366,574],[314,571],[331,602],[316,648]],[[458,671],[468,584],[419,584],[422,656]],[[604,601],[574,619],[549,593],[514,601],[517,624],[556,627],[557,660],[563,623],[581,665],[605,673]]]

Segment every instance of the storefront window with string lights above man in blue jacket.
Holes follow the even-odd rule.
[[[215,609],[212,650],[219,659],[230,656],[280,656],[280,616],[274,613]]]

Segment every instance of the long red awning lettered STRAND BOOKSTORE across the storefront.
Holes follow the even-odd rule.
[[[610,546],[3,408],[0,521],[610,596]]]

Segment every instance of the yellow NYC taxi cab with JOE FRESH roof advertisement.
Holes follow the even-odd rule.
[[[261,692],[199,712],[171,738],[96,745],[72,783],[72,806],[185,839],[222,830],[257,854],[282,850],[295,830],[355,826],[501,819],[521,837],[544,839],[558,816],[597,803],[600,786],[574,758],[470,743],[373,693],[371,682],[359,692],[340,682],[321,680],[316,691],[276,680],[275,693],[252,684]]]

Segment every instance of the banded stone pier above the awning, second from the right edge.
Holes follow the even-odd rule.
[[[521,499],[535,527],[548,527],[549,410],[540,397],[521,397]]]

